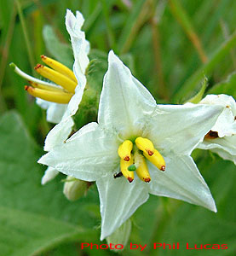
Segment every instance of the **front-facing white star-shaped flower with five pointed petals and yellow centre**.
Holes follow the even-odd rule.
[[[78,179],[96,181],[101,240],[130,218],[149,193],[216,212],[210,190],[190,154],[216,123],[222,107],[157,105],[112,51],[108,62],[98,123],[83,126],[38,162]],[[120,168],[123,177],[116,175]]]

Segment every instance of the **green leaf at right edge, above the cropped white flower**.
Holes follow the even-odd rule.
[[[222,81],[214,85],[208,93],[211,94],[227,94],[231,95],[236,99],[236,73],[231,73],[225,81]]]

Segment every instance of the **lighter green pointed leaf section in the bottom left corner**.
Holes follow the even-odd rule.
[[[41,215],[0,207],[0,248],[4,256],[38,255],[61,242],[76,241],[83,230]]]

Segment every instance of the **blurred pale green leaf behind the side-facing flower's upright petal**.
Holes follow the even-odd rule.
[[[49,25],[43,27],[43,38],[50,55],[57,61],[66,65],[66,67],[72,68],[72,46],[61,43],[60,39],[55,34],[53,27]]]

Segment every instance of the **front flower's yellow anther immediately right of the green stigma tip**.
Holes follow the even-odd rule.
[[[134,158],[135,158],[135,165],[137,166],[136,173],[138,177],[142,181],[149,183],[151,181],[151,177],[148,172],[145,157],[142,154],[139,154],[138,151],[136,151]]]

